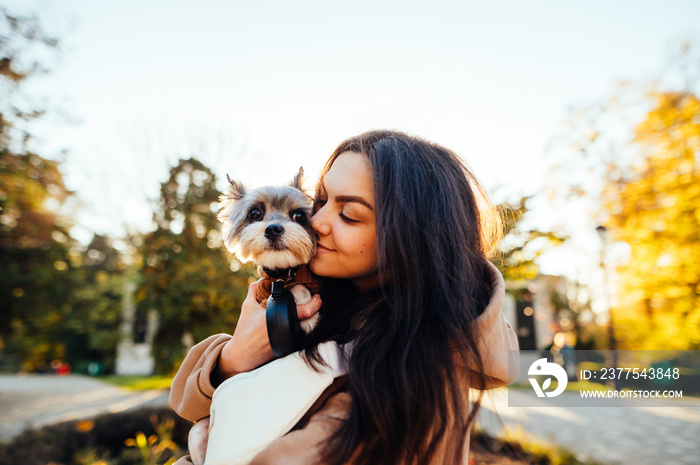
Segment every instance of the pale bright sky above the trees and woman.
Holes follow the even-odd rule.
[[[62,39],[28,90],[58,110],[35,144],[65,157],[83,240],[151,228],[178,158],[220,188],[313,181],[376,128],[453,149],[497,201],[537,192],[571,108],[652,79],[700,31],[700,2],[677,0],[9,3]]]

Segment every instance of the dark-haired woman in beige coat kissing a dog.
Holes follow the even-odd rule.
[[[348,375],[252,463],[466,463],[469,388],[508,382],[517,337],[501,313],[503,279],[487,260],[497,219],[451,151],[394,131],[341,143],[316,189],[312,271],[326,278],[305,341],[352,341]],[[197,421],[214,387],[273,358],[255,285],[233,337],[188,354],[171,405]],[[315,297],[300,317],[318,311]],[[512,377],[510,377],[512,380]]]

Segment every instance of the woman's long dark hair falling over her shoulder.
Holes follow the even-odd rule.
[[[483,395],[470,411],[468,387],[485,386],[471,323],[491,295],[487,260],[498,223],[471,171],[444,147],[396,131],[366,132],[335,149],[319,186],[347,151],[370,162],[385,278],[362,294],[347,282],[329,283],[327,317],[307,340],[311,359],[321,340],[353,341],[352,410],[326,444],[324,462],[423,464],[441,448],[445,463],[460,463]]]

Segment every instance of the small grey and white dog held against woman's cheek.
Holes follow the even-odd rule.
[[[305,304],[320,292],[320,284],[306,266],[316,251],[311,227],[312,199],[302,188],[303,168],[287,186],[246,189],[228,175],[229,190],[220,200],[218,218],[226,248],[242,262],[259,266],[262,281],[257,300],[263,307],[270,297],[272,282],[285,281],[296,304]],[[301,321],[309,333],[319,314]],[[195,465],[203,465],[209,440],[209,417],[197,422],[189,434],[189,450]]]

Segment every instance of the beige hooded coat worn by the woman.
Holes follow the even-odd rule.
[[[509,356],[517,362],[518,339],[512,326],[502,313],[505,284],[498,270],[491,266],[493,294],[484,312],[474,322],[474,334],[479,335],[479,350],[484,362],[486,389],[491,389],[513,382],[517,372],[508,373]],[[170,391],[170,405],[181,417],[199,421],[209,416],[211,397],[215,386],[211,374],[216,367],[219,354],[228,334],[218,334],[200,342],[190,350],[180,370],[173,379]],[[517,363],[511,361],[511,367]],[[465,379],[470,369],[465,367]],[[311,407],[308,413],[285,436],[275,440],[260,452],[251,462],[254,465],[310,465],[319,463],[319,452],[324,438],[335,431],[340,422],[347,418],[352,402],[350,393],[345,389],[346,377],[338,378]],[[464,389],[469,395],[468,386]],[[468,444],[465,454],[468,454]],[[435,464],[444,464],[438,456]],[[176,465],[191,463],[189,457],[180,459]],[[466,463],[466,457],[465,457]]]

